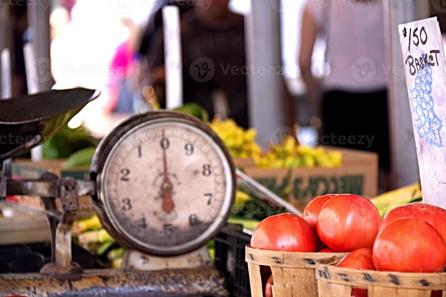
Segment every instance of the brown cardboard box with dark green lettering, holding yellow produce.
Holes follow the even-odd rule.
[[[330,148],[333,150],[333,148]],[[371,198],[378,191],[378,154],[336,149],[343,154],[341,167],[259,168],[253,161],[236,159],[235,165],[271,191],[288,198],[299,210],[316,196],[355,194]]]

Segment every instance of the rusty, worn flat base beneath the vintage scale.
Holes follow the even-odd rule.
[[[212,268],[156,272],[119,268],[86,270],[69,279],[40,273],[2,274],[0,278],[1,296],[229,296],[224,278]]]

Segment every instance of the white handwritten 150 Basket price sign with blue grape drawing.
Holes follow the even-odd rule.
[[[440,28],[436,17],[398,28],[423,198],[446,208],[446,63]]]

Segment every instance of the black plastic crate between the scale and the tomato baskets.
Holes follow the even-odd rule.
[[[251,235],[242,225],[227,224],[215,238],[215,266],[226,277],[231,296],[251,297],[245,246]]]

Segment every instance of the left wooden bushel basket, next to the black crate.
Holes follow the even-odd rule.
[[[252,297],[263,297],[260,265],[271,267],[273,295],[277,297],[317,297],[316,261],[341,253],[277,252],[258,248],[245,249]],[[350,295],[349,295],[350,297]]]

